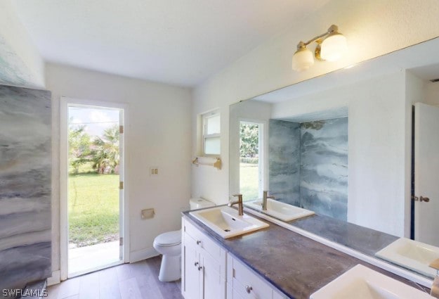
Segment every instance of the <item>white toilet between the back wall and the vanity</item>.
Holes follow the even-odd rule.
[[[213,207],[215,204],[204,198],[190,198],[190,210]],[[181,278],[181,229],[168,231],[155,237],[155,250],[162,254],[159,281],[176,281]]]

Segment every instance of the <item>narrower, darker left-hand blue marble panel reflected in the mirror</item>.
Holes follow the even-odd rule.
[[[269,188],[279,201],[300,204],[300,124],[270,120]]]

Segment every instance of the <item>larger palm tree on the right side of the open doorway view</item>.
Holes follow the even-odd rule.
[[[105,129],[102,137],[93,140],[91,155],[98,173],[119,173],[119,126]]]

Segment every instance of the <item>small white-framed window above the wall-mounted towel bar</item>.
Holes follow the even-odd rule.
[[[218,156],[221,154],[221,123],[217,111],[202,115],[203,120],[203,154]]]

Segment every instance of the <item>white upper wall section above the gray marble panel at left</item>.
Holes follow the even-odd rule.
[[[0,84],[44,88],[44,61],[11,0],[0,1]]]

